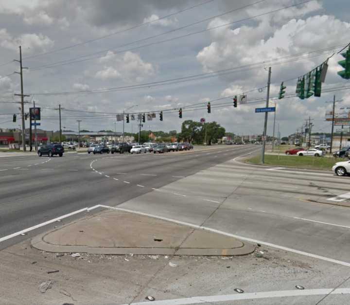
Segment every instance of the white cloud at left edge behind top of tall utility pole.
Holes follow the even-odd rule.
[[[27,54],[46,51],[53,47],[53,40],[42,34],[22,34],[18,37],[10,35],[6,29],[0,29],[0,46],[18,51],[18,46],[26,50]]]

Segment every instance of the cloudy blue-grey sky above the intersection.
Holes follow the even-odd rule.
[[[204,117],[227,131],[262,133],[263,114],[254,108],[264,107],[271,66],[270,106],[277,103],[281,135],[309,116],[314,131],[330,132],[324,115],[331,104],[325,102],[335,94],[343,100],[337,107],[350,107],[349,90],[273,98],[281,81],[287,95],[295,93],[296,77],[333,53],[323,89],[349,86],[336,73],[337,52],[349,42],[348,0],[0,0],[0,127],[19,124],[12,123],[19,112],[14,93],[20,93],[12,60],[21,45],[29,68],[23,73],[24,93],[31,95],[26,101],[42,107],[43,129],[58,129],[53,108],[61,104],[62,125],[71,130],[80,119],[84,129],[121,131],[115,113],[134,106],[127,112],[164,110],[164,121],[157,116],[146,129],[180,131],[183,120]],[[238,108],[223,99],[242,93],[248,104]],[[182,119],[177,110],[167,111],[178,108]],[[270,115],[269,134],[272,126]],[[125,130],[135,132],[137,122]]]

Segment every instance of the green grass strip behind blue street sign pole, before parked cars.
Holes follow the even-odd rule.
[[[332,169],[332,166],[336,162],[347,161],[348,159],[342,158],[324,158],[324,157],[312,157],[312,156],[275,156],[265,155],[265,164],[267,165],[279,165],[299,168],[315,168],[315,169]],[[261,164],[261,157],[255,156],[247,159],[245,162],[252,164]]]

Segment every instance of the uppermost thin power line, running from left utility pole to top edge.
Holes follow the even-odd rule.
[[[80,43],[76,43],[76,44],[73,44],[73,45],[70,45],[70,46],[67,46],[67,47],[63,47],[63,48],[60,48],[60,49],[52,50],[52,51],[49,51],[49,52],[44,52],[44,53],[40,53],[40,54],[35,54],[35,55],[32,55],[32,56],[24,57],[23,59],[35,58],[35,57],[38,57],[38,56],[42,56],[42,55],[46,55],[46,54],[52,54],[52,53],[56,53],[56,52],[59,52],[59,51],[67,50],[67,49],[70,49],[70,48],[82,46],[82,45],[87,44],[87,43],[89,43],[89,42],[94,42],[94,41],[97,41],[97,40],[101,40],[101,39],[104,39],[104,38],[107,38],[107,37],[110,37],[110,36],[114,36],[114,35],[117,35],[117,34],[121,34],[121,33],[130,31],[130,30],[139,28],[139,27],[141,27],[141,26],[143,26],[143,25],[151,24],[151,23],[153,23],[153,22],[156,22],[156,21],[159,21],[159,20],[162,20],[162,19],[165,19],[165,18],[169,18],[169,17],[171,17],[171,16],[174,16],[174,15],[177,15],[177,14],[179,14],[179,13],[188,11],[188,10],[190,10],[190,9],[192,9],[192,8],[195,8],[195,7],[198,7],[198,6],[201,6],[201,5],[210,3],[210,2],[212,2],[212,1],[214,1],[214,0],[209,0],[209,1],[201,2],[201,3],[199,3],[199,4],[195,4],[195,5],[192,5],[192,6],[190,6],[190,7],[185,8],[185,9],[179,10],[179,11],[177,11],[177,12],[175,12],[175,13],[172,13],[172,14],[169,14],[169,15],[166,15],[166,16],[163,16],[163,17],[159,17],[159,18],[154,19],[154,20],[151,20],[151,21],[143,22],[143,23],[134,25],[134,26],[132,26],[132,27],[130,27],[130,28],[121,30],[121,31],[117,31],[117,32],[114,32],[114,33],[111,33],[111,34],[108,34],[108,35],[105,35],[105,36],[100,36],[100,37],[98,37],[98,38],[89,39],[89,40],[86,40],[86,41],[83,41],[83,42],[80,42]]]

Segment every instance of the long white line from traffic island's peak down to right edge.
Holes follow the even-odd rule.
[[[209,231],[209,232],[219,233],[219,234],[222,234],[222,235],[226,235],[226,236],[234,237],[234,238],[237,238],[237,239],[245,240],[245,241],[248,241],[248,242],[251,242],[251,243],[254,243],[254,244],[261,244],[261,245],[264,245],[264,246],[268,246],[268,247],[272,247],[272,248],[276,248],[276,249],[280,249],[280,250],[284,250],[284,251],[289,251],[289,252],[297,253],[297,254],[300,254],[300,255],[305,255],[305,256],[316,258],[316,259],[324,260],[324,261],[327,261],[327,262],[331,262],[331,263],[334,263],[334,264],[350,267],[350,263],[348,263],[348,262],[343,262],[343,261],[339,261],[337,259],[333,259],[333,258],[330,258],[330,257],[325,257],[325,256],[321,256],[321,255],[317,255],[317,254],[313,254],[313,253],[309,253],[309,252],[304,252],[304,251],[300,251],[300,250],[296,250],[296,249],[292,249],[292,248],[288,248],[288,247],[272,244],[272,243],[265,242],[265,241],[262,241],[262,240],[257,240],[257,239],[253,239],[253,238],[249,238],[249,237],[244,237],[244,236],[240,236],[240,235],[236,235],[236,234],[227,233],[227,232],[216,230],[216,229],[212,229],[212,228],[209,228],[209,227],[198,226],[198,225],[195,225],[195,224],[192,224],[192,223],[189,223],[189,222],[185,222],[185,221],[180,221],[180,220],[176,220],[176,219],[172,219],[172,218],[167,218],[167,217],[163,217],[163,216],[157,216],[157,215],[153,215],[153,214],[148,214],[148,213],[143,213],[143,212],[138,212],[138,211],[133,211],[133,210],[128,210],[128,209],[123,209],[123,208],[111,207],[111,206],[103,205],[103,204],[100,204],[99,207],[102,207],[102,208],[104,207],[106,209],[120,210],[120,211],[129,212],[129,213],[135,213],[135,214],[139,214],[139,215],[145,215],[145,216],[149,216],[149,217],[153,217],[153,218],[158,218],[158,219],[162,219],[162,220],[166,220],[166,221],[171,221],[171,222],[178,223],[178,224],[185,225],[185,226],[189,226],[189,227],[192,227],[192,228],[195,228],[195,229],[201,229],[201,230],[206,230],[206,231]]]

